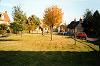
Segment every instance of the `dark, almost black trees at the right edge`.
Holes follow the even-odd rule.
[[[92,14],[90,10],[86,11],[84,14],[83,27],[88,36],[100,38],[100,13],[98,10],[96,10],[94,14]]]

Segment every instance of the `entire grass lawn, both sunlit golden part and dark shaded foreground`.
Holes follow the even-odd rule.
[[[96,50],[96,51],[94,51]],[[0,66],[99,66],[99,46],[69,37],[12,34],[0,38]]]

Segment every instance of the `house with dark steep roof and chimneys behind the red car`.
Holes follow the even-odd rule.
[[[72,21],[69,25],[68,25],[68,31],[69,32],[83,32],[84,28],[82,27],[82,19],[80,18],[79,21],[76,21],[76,19],[74,19],[74,21]]]

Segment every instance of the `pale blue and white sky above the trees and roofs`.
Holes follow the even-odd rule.
[[[69,24],[75,18],[82,18],[86,9],[100,12],[100,0],[0,0],[0,12],[7,11],[10,20],[13,21],[12,11],[14,6],[21,6],[27,17],[36,15],[43,18],[44,10],[52,5],[62,9],[63,22]]]

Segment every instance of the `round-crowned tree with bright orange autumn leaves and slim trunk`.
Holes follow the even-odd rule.
[[[62,9],[58,8],[57,6],[52,6],[47,8],[44,12],[43,22],[50,27],[52,40],[53,27],[58,26],[62,22]]]

